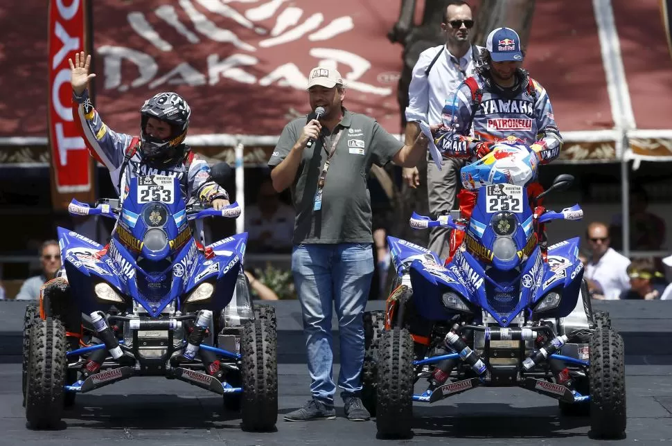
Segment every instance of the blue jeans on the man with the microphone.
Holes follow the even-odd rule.
[[[332,301],[341,346],[338,386],[347,393],[358,392],[373,250],[370,243],[299,244],[292,250],[292,273],[303,313],[310,391],[313,398],[333,406]]]

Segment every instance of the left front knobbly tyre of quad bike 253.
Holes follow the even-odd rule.
[[[65,328],[58,319],[37,319],[30,330],[26,420],[30,429],[58,427],[67,369]]]

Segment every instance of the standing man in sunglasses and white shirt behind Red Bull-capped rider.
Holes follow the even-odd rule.
[[[481,48],[470,44],[473,26],[470,6],[461,0],[449,1],[441,23],[445,44],[423,51],[413,69],[408,89],[409,105],[406,108],[407,143],[415,141],[420,133],[419,121],[429,124],[441,122],[441,110],[446,98],[452,103],[457,87],[474,73]],[[464,163],[463,159],[444,159],[441,170],[434,163],[427,163],[430,213],[436,215],[453,208],[459,170]],[[404,168],[403,177],[409,187],[420,185],[418,168]],[[449,234],[450,229],[447,228],[433,228],[430,232],[428,247],[441,258],[448,256]]]

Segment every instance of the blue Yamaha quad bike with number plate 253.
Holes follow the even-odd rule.
[[[123,202],[73,200],[69,211],[116,226],[106,247],[58,228],[65,276],[43,287],[24,320],[28,427],[57,427],[78,393],[164,376],[222,395],[243,429],[274,429],[276,317],[249,298],[247,233],[199,248],[189,224],[238,217],[238,204],[186,206],[177,179],[152,175],[132,179]]]

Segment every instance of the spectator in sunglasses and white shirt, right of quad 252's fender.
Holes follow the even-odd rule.
[[[627,257],[610,247],[609,228],[602,222],[592,222],[586,231],[591,257],[585,267],[588,292],[596,299],[613,300],[630,289],[630,278],[626,269],[630,265]]]

